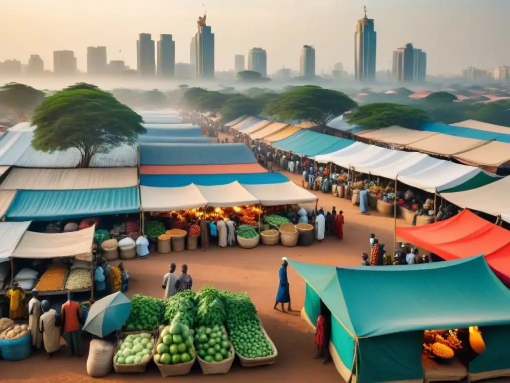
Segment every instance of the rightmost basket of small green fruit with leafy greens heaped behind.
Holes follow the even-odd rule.
[[[221,295],[227,310],[226,324],[236,352],[246,358],[273,355],[274,350],[262,331],[257,309],[246,293],[223,291]]]

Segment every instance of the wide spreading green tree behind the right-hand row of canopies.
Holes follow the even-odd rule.
[[[263,113],[284,121],[301,119],[325,128],[335,117],[356,107],[346,94],[320,86],[297,86],[280,95],[264,108]]]

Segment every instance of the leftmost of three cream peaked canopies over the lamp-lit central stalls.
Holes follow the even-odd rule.
[[[144,211],[174,211],[207,205],[198,187],[152,187],[140,185],[141,208]]]

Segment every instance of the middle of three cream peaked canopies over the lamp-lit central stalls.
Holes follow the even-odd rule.
[[[205,197],[208,206],[234,207],[259,203],[259,199],[249,193],[248,190],[246,190],[237,181],[228,183],[226,185],[197,185],[196,187],[198,187],[202,196]]]

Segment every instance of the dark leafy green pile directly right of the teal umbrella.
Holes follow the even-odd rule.
[[[164,311],[165,303],[161,299],[135,294],[131,297],[131,313],[124,329],[155,330],[163,322]]]

